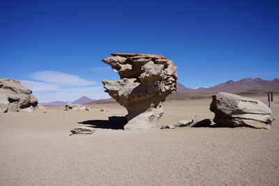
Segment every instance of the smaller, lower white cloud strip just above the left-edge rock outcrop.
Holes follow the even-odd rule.
[[[59,86],[56,84],[47,84],[42,82],[33,82],[28,80],[20,80],[20,83],[31,89],[33,92],[46,92],[46,91],[56,91]]]

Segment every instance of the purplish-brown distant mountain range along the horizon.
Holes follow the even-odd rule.
[[[210,98],[213,93],[228,92],[235,93],[243,96],[250,95],[264,95],[268,91],[273,91],[274,94],[279,94],[279,79],[275,78],[271,81],[260,78],[246,78],[237,82],[229,80],[225,83],[218,84],[209,88],[187,88],[183,84],[178,84],[179,91],[172,93],[167,97],[167,100],[179,100],[179,99],[197,99],[197,98]],[[95,102],[96,104],[116,102],[112,98],[92,100],[86,96],[82,96],[73,102],[73,104],[90,104]],[[42,102],[43,105],[63,106],[68,102],[54,101],[54,102]]]

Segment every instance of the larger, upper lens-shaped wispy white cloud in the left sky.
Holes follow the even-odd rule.
[[[33,72],[29,75],[29,77],[40,82],[56,84],[60,86],[89,86],[96,84],[96,82],[82,79],[77,75],[70,75],[57,71]]]

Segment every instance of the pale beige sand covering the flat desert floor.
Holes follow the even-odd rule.
[[[210,102],[168,101],[160,124],[212,120]],[[118,104],[91,108],[0,114],[0,185],[279,185],[278,120],[272,130],[96,128],[91,135],[69,136],[75,126],[90,126],[79,122],[126,114]],[[278,101],[272,110],[279,119]]]

